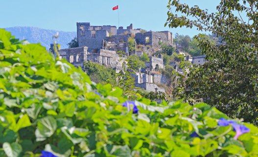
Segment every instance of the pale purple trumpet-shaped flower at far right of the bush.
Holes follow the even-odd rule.
[[[233,131],[235,131],[235,133],[236,133],[235,137],[234,137],[235,140],[240,135],[250,132],[250,129],[248,127],[246,127],[244,125],[237,124],[235,121],[227,120],[225,118],[220,118],[219,121],[218,121],[218,125],[219,126],[231,125],[234,128]]]

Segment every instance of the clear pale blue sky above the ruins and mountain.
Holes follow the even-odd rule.
[[[189,36],[198,34],[196,29],[164,27],[167,19],[168,0],[0,0],[0,28],[34,26],[59,31],[76,31],[76,22],[91,22],[91,25],[120,26],[130,23],[134,28],[147,31],[168,30],[173,34]],[[181,0],[189,5],[214,12],[220,0]]]

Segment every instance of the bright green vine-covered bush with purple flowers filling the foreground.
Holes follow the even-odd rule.
[[[252,124],[219,120],[204,103],[122,93],[0,29],[0,157],[258,156]]]

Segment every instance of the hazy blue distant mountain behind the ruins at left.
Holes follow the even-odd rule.
[[[52,36],[56,34],[55,30],[42,29],[37,27],[9,27],[5,28],[14,35],[17,39],[27,39],[30,43],[41,43],[47,49],[50,43],[53,43]],[[58,31],[59,37],[56,40],[61,45],[61,48],[68,48],[67,44],[76,37],[76,32]]]

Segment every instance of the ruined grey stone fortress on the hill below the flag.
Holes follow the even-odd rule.
[[[136,51],[129,52],[129,38],[134,37]],[[164,88],[157,84],[166,83],[166,78],[158,70],[164,68],[163,56],[152,56],[161,49],[161,44],[173,45],[173,35],[169,31],[153,32],[142,29],[134,29],[133,24],[126,29],[116,26],[91,26],[88,22],[77,22],[77,40],[79,47],[59,50],[60,58],[67,59],[74,66],[83,67],[85,61],[92,61],[122,70],[124,59],[130,55],[141,57],[143,52],[149,56],[149,62],[145,62],[145,68],[141,72],[132,75],[135,85],[146,91],[165,92]],[[138,47],[137,47],[138,46]],[[53,44],[50,45],[53,51]],[[138,50],[138,51],[137,51]],[[118,51],[125,53],[122,59]],[[188,59],[192,59],[188,57]],[[199,59],[199,58],[198,58]],[[171,63],[173,64],[173,63]]]

